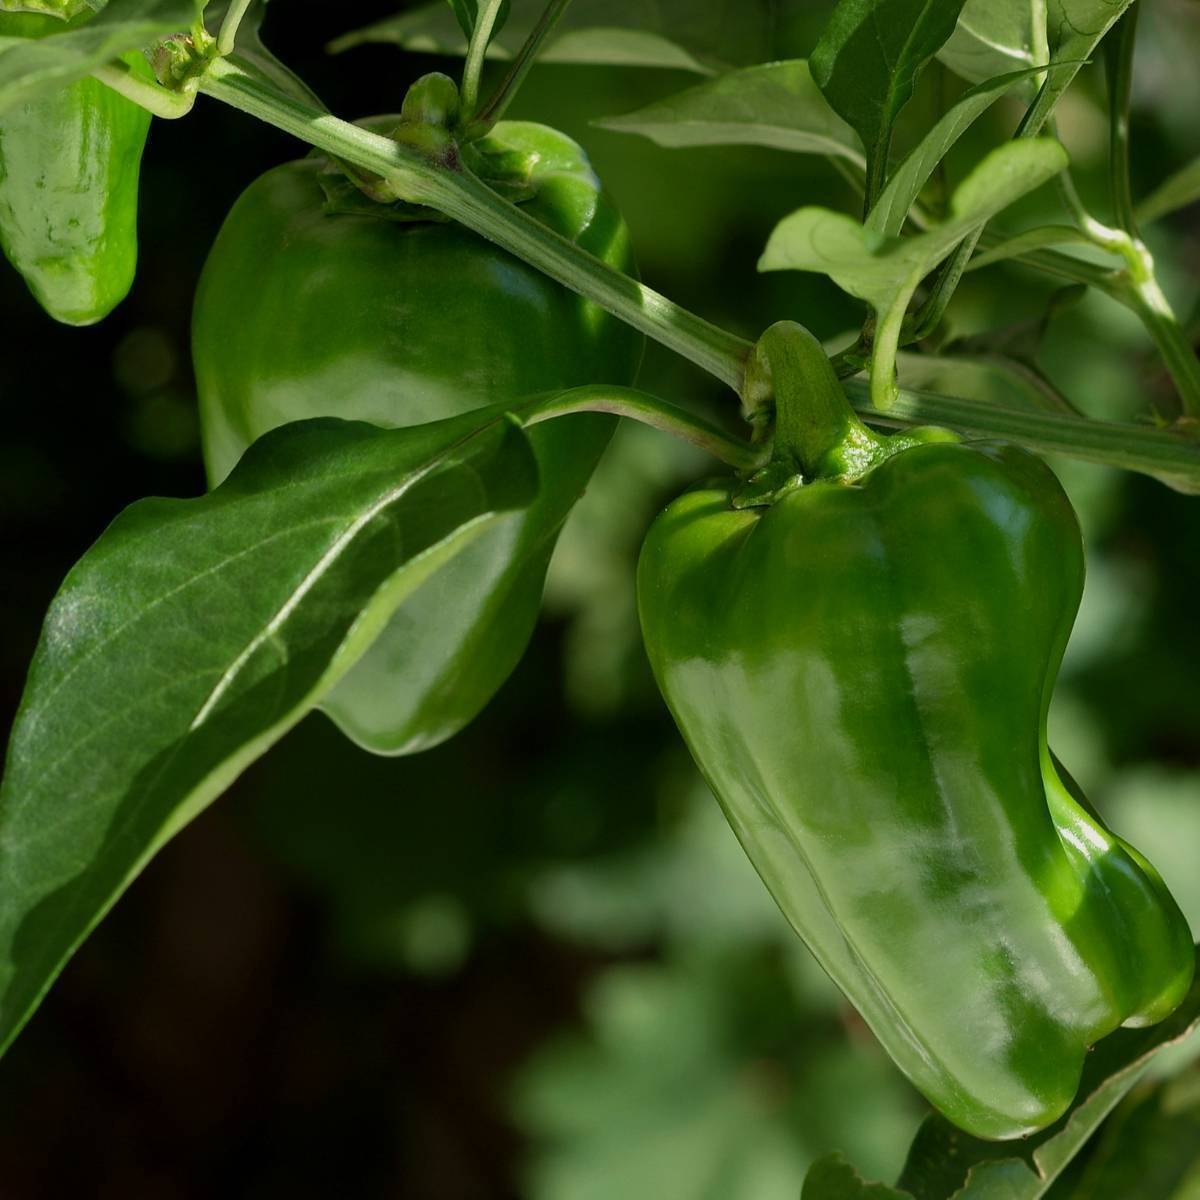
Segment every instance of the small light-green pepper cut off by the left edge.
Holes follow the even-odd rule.
[[[44,37],[64,28],[54,17],[0,13],[6,37]],[[152,78],[140,54],[126,61]],[[0,115],[0,247],[56,320],[91,325],[133,283],[149,128],[144,108],[95,79]]]

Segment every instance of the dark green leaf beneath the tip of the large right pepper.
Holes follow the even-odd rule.
[[[810,1195],[805,1182],[802,1200],[1042,1200],[1154,1060],[1196,1036],[1198,1027],[1200,974],[1165,1021],[1144,1030],[1117,1030],[1094,1046],[1084,1063],[1074,1105],[1049,1129],[1021,1141],[983,1141],[934,1114],[917,1132],[895,1190],[864,1190],[868,1184],[844,1171],[845,1192],[814,1190]],[[836,1182],[836,1171],[844,1166],[844,1160],[830,1158],[815,1164],[814,1171],[821,1168],[824,1177]]]

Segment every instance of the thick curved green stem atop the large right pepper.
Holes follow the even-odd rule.
[[[805,479],[846,475],[874,458],[881,439],[856,415],[821,343],[803,325],[781,320],[755,346],[746,368],[746,404],[758,424],[775,409],[775,458]]]

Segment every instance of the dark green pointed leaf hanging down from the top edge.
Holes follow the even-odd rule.
[[[895,119],[961,7],[962,0],[840,0],[812,52],[812,78],[858,132],[881,179]]]

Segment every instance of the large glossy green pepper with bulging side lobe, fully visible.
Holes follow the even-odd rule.
[[[1056,769],[1075,516],[1014,448],[916,445],[853,482],[649,532],[654,673],[768,889],[884,1048],[983,1138],[1058,1117],[1087,1048],[1193,971],[1162,880]]]

